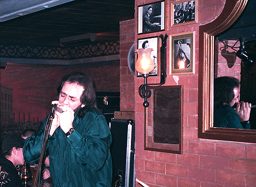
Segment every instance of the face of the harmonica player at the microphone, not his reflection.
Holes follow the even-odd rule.
[[[77,107],[85,107],[85,105],[80,102],[80,98],[84,90],[84,87],[77,83],[65,82],[59,93],[58,100],[60,103],[68,105],[75,111]]]

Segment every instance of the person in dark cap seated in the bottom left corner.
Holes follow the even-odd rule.
[[[21,187],[22,181],[15,167],[24,164],[24,139],[9,136],[3,140],[2,155],[0,155],[0,185],[1,187]]]

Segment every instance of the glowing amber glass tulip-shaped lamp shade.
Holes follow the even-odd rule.
[[[155,64],[151,59],[152,48],[147,49],[137,49],[138,59],[135,63],[135,69],[141,74],[149,74],[154,70]]]

